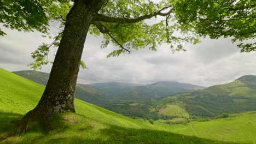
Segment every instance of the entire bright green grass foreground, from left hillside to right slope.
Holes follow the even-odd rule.
[[[0,69],[0,143],[253,143],[256,113],[187,125],[138,121],[75,99],[74,113],[55,115],[52,130],[40,125],[8,136],[11,121],[33,109],[44,86]],[[180,134],[179,134],[180,133]],[[181,135],[185,134],[185,135]],[[190,135],[190,136],[189,136]],[[211,139],[211,140],[210,140]],[[226,141],[226,142],[223,142]]]

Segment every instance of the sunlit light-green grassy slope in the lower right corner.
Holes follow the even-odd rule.
[[[256,143],[256,112],[231,115],[209,122],[190,122],[187,125],[155,123],[173,133],[207,137],[208,139]]]

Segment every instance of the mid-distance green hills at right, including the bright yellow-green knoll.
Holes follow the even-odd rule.
[[[221,113],[256,110],[256,76],[245,75],[224,85],[215,85],[193,92],[169,94],[161,99],[121,101],[104,105],[126,116],[144,118],[214,117]]]

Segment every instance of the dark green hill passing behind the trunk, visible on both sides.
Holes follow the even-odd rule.
[[[13,71],[14,74],[25,77],[26,79],[32,80],[34,82],[40,83],[41,85],[46,85],[49,79],[48,73],[43,73],[36,70],[22,70]],[[83,85],[77,83],[75,87],[75,98],[87,101],[95,105],[104,105],[113,102],[113,97],[107,93],[100,91],[95,87],[89,85]]]

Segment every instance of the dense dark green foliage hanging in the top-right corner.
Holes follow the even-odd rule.
[[[174,7],[178,22],[194,27],[200,36],[231,37],[242,41],[237,45],[241,52],[256,51],[255,42],[243,42],[256,37],[255,0],[178,0]]]

